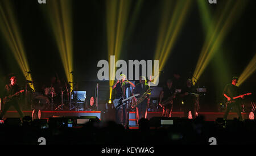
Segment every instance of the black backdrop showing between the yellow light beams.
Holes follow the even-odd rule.
[[[36,0],[0,1],[11,1],[14,5],[12,11],[16,16],[28,65],[32,72],[32,79],[36,83],[36,90],[40,90],[42,85],[48,86],[51,78],[56,75],[63,84],[64,82],[67,83],[54,35],[51,27],[49,27],[49,20],[44,15],[46,10],[42,11],[46,8],[40,6]],[[162,2],[156,0],[143,2],[133,31],[124,37],[120,59],[126,62],[128,60],[154,60]],[[134,11],[135,3],[136,1],[131,2],[132,11]],[[209,5],[212,15],[216,13],[218,5],[221,4],[223,2]],[[217,56],[212,58],[200,77],[199,86],[205,86],[208,90],[203,101],[203,108],[207,111],[214,109],[216,111],[217,103],[223,98],[221,93],[225,84],[230,83],[233,76],[238,77],[255,54],[255,4],[256,1],[254,0],[248,1],[241,17],[230,27],[228,35],[221,44],[222,60],[226,62],[225,68],[228,68],[230,73],[228,78],[222,78],[223,75],[217,74],[216,70],[218,69],[214,64],[218,59]],[[97,68],[97,63],[109,58],[105,1],[72,1],[72,11],[74,81],[79,84],[78,90],[86,90],[88,96],[93,96],[93,90],[96,83],[99,82],[97,72],[100,68]],[[166,79],[172,78],[174,71],[180,71],[183,79],[192,77],[205,41],[200,16],[199,8],[193,4],[179,37],[177,37],[172,54],[168,57],[163,73],[159,78],[159,86],[163,86]],[[130,20],[129,18],[128,23]],[[11,73],[17,75],[19,85],[24,87],[24,76],[1,33],[1,91]],[[242,84],[241,90],[243,92],[255,92],[255,79],[254,73]],[[252,99],[254,97],[251,96]]]

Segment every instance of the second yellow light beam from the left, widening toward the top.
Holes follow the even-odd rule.
[[[47,6],[46,14],[50,19],[65,75],[68,82],[73,83],[72,1],[55,0],[47,3]]]

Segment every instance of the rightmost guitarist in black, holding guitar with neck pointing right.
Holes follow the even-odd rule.
[[[236,86],[237,82],[238,82],[238,77],[233,77],[232,83],[229,83],[228,85],[225,86],[225,88],[223,90],[223,95],[225,96],[226,101],[230,101],[233,99],[233,97],[240,95],[240,90],[239,90],[238,86]],[[241,98],[243,98],[243,95]],[[236,100],[236,102],[227,104],[226,111],[224,114],[224,119],[227,119],[229,111],[232,107],[234,108],[234,111],[237,112],[239,120],[241,121],[242,120],[242,114],[241,114],[242,108],[241,108],[241,101],[239,99]]]

